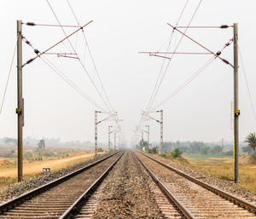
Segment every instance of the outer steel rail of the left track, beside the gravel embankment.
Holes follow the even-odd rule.
[[[15,207],[15,205],[19,205],[19,204],[23,203],[24,201],[26,201],[27,199],[32,199],[32,197],[38,195],[39,193],[44,193],[45,191],[49,190],[49,188],[55,187],[55,186],[61,184],[61,182],[65,182],[68,179],[72,178],[73,176],[79,175],[79,173],[83,172],[84,170],[88,170],[91,167],[95,166],[96,164],[102,163],[102,161],[112,157],[113,155],[115,155],[117,153],[110,154],[107,157],[101,158],[92,164],[88,164],[87,166],[84,166],[84,167],[80,168],[79,170],[75,170],[72,173],[67,174],[66,176],[61,176],[60,178],[56,179],[55,181],[44,184],[41,187],[37,187],[27,193],[21,194],[20,196],[16,197],[15,199],[10,199],[9,201],[4,202],[3,204],[0,205],[0,213],[3,213],[4,211],[12,209],[13,207]]]

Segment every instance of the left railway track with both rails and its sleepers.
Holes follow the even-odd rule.
[[[123,153],[114,153],[0,205],[0,218],[69,218],[108,175]]]

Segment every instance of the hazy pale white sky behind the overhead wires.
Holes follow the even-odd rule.
[[[94,20],[84,28],[85,36],[108,98],[113,108],[119,112],[119,118],[124,119],[121,122],[122,130],[126,139],[131,140],[133,130],[141,117],[140,111],[147,106],[163,61],[161,58],[138,54],[138,51],[166,49],[168,37],[172,33],[172,28],[166,23],[175,25],[186,0],[69,1],[81,24]],[[199,0],[189,0],[179,25],[188,24],[199,2]],[[55,0],[49,3],[62,25],[76,25],[67,1]],[[256,76],[253,66],[256,49],[255,9],[256,2],[253,0],[204,0],[191,25],[219,26],[238,22],[241,54],[252,91],[253,104],[256,107],[256,87],[254,86]],[[2,101],[15,48],[16,20],[40,24],[56,24],[56,20],[46,0],[1,1],[0,10],[2,20],[0,101]],[[65,30],[69,33],[74,29]],[[232,28],[189,29],[187,33],[214,52],[222,49],[224,43],[227,43],[233,34]],[[23,26],[23,35],[40,51],[44,51],[65,37],[59,27],[42,26]],[[175,48],[180,37],[178,33],[173,35],[172,49]],[[71,42],[78,50],[90,77],[102,92],[88,49],[84,50],[84,37],[81,32],[72,37]],[[52,52],[69,52],[70,46],[68,43],[65,44],[67,48],[61,44]],[[203,50],[184,38],[178,51],[202,52]],[[232,51],[233,45],[223,52],[223,57],[230,62],[233,62]],[[23,62],[33,56],[32,49],[24,43]],[[175,55],[153,107],[171,95],[172,91],[201,67],[209,57],[209,55]],[[91,99],[104,106],[90,79],[79,65],[79,61],[57,58],[54,55],[48,55],[47,58],[75,84],[78,84]],[[0,115],[0,137],[16,136],[15,66],[16,63],[12,69],[3,113]],[[241,67],[239,74],[240,139],[242,140],[248,132],[255,131],[256,123]],[[95,106],[84,100],[39,59],[25,66],[23,75],[25,136],[94,140]],[[224,137],[225,140],[231,141],[233,130],[230,130],[230,101],[232,98],[233,69],[221,61],[213,61],[191,84],[159,108],[164,110],[164,140],[219,141]],[[156,114],[155,117],[157,116]],[[99,125],[100,142],[108,141],[108,124],[113,122]],[[144,124],[150,124],[150,139],[159,141],[159,124],[154,121]]]

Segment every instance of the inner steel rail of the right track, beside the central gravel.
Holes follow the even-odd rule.
[[[137,157],[136,153],[134,155]],[[154,173],[149,170],[148,166],[143,163],[143,161],[138,158],[138,161],[143,164],[143,167],[148,171],[148,174],[152,177],[155,184],[160,187],[160,190],[166,195],[168,199],[171,199],[172,202],[177,206],[179,210],[183,212],[183,215],[186,216],[189,219],[195,219],[195,216],[172,194],[172,192],[163,184],[163,182],[160,182],[157,176],[154,175]]]

